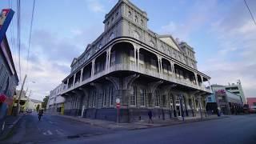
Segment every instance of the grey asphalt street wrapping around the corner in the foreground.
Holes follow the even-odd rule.
[[[80,134],[79,138],[76,135]],[[81,136],[82,135],[82,136]],[[106,130],[68,118],[22,118],[8,142],[21,143],[256,143],[256,114],[142,130]]]

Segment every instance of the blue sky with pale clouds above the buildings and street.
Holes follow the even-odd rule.
[[[243,0],[130,1],[147,12],[150,30],[194,47],[198,70],[211,77],[211,84],[240,79],[246,97],[256,97],[256,25]],[[33,1],[22,0],[21,74],[22,79],[28,75],[24,89],[32,91],[31,98],[42,100],[70,74],[73,58],[102,34],[105,14],[116,2],[36,0],[27,62]],[[256,1],[246,2],[256,18]],[[0,0],[3,8],[17,11],[16,1]],[[18,70],[16,14],[6,35]]]

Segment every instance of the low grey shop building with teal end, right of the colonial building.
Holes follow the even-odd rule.
[[[206,98],[206,110],[209,113],[217,113],[217,109],[221,110],[222,114],[238,114],[243,112],[242,98],[238,94],[231,93],[226,90],[226,86],[211,85],[213,94]]]

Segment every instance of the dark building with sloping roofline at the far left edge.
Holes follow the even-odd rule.
[[[1,124],[2,119],[5,118],[6,114],[10,114],[8,111],[11,110],[13,104],[13,96],[16,86],[18,86],[18,76],[6,35],[0,44],[0,94],[6,95],[6,101],[0,102]]]

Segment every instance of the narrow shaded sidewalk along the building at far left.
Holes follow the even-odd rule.
[[[18,116],[13,116],[13,115],[6,116],[4,120],[5,122],[5,126],[3,127],[4,129],[2,130],[2,126],[1,126],[1,130],[0,130],[0,141],[7,137],[7,135],[10,133],[13,127],[18,123],[18,121],[22,118],[22,116],[23,114],[20,114]]]

